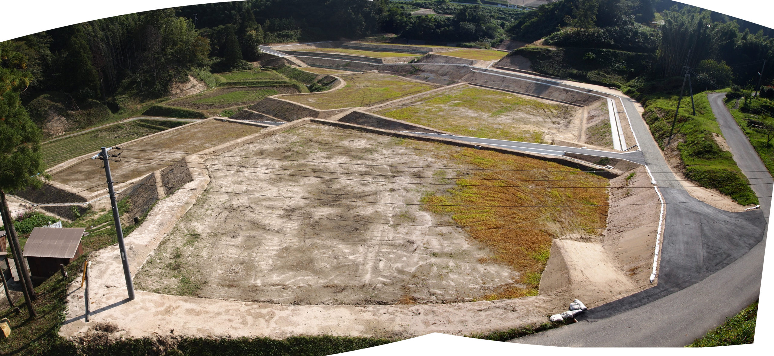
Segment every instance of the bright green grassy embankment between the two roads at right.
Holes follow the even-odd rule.
[[[677,107],[677,97],[654,94],[643,100],[645,113],[642,117],[650,126],[662,150],[668,151],[666,141]],[[745,175],[736,165],[731,152],[725,151],[716,142],[715,136],[722,137],[720,126],[712,114],[707,92],[694,96],[696,116],[692,115],[690,97],[683,98],[677,117],[671,144],[676,142],[680,158],[685,164],[685,175],[698,185],[728,195],[741,205],[757,204],[758,198],[752,192]],[[714,135],[715,134],[715,135]]]

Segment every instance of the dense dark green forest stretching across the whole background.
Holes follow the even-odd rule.
[[[412,15],[420,8],[438,15]],[[683,66],[694,68],[699,86],[752,88],[762,59],[774,60],[770,32],[668,0],[560,0],[531,10],[449,0],[250,0],[70,25],[5,42],[5,53],[27,59],[21,96],[33,120],[55,113],[84,126],[163,98],[187,76],[208,82],[211,73],[251,68],[261,43],[539,41],[514,53],[533,70],[652,92],[679,86]],[[774,70],[765,70],[763,83],[772,80]]]

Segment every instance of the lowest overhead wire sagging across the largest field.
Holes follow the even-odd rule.
[[[142,195],[128,195],[128,196],[135,196],[135,197],[139,197],[139,198],[151,198],[151,197],[142,196]],[[459,226],[459,225],[452,226],[452,225],[399,224],[399,223],[396,223],[396,222],[369,222],[369,221],[365,221],[365,220],[319,218],[319,217],[315,217],[315,216],[281,214],[281,213],[278,213],[278,212],[257,212],[255,210],[237,209],[237,208],[226,208],[224,206],[204,205],[204,204],[197,204],[197,203],[190,203],[190,202],[177,202],[177,201],[169,200],[169,199],[166,199],[166,198],[163,198],[163,199],[151,198],[151,199],[158,200],[158,201],[164,201],[164,202],[173,202],[173,203],[178,203],[178,204],[196,205],[196,206],[202,206],[202,207],[205,207],[205,208],[226,209],[226,210],[233,210],[233,211],[238,211],[238,212],[252,212],[252,213],[255,213],[255,214],[290,216],[290,217],[294,217],[294,218],[319,219],[319,220],[330,220],[330,221],[340,221],[340,222],[361,222],[361,223],[366,223],[366,224],[380,224],[380,225],[399,225],[399,226],[429,227],[429,228],[453,228],[453,229],[482,229],[482,230],[586,230],[586,229],[608,229],[607,226],[601,226],[601,227],[577,227],[577,228],[478,228],[478,227],[465,227],[465,226]],[[704,225],[704,224],[715,224],[715,223],[721,223],[721,222],[738,222],[738,221],[755,220],[755,219],[765,219],[765,218],[734,219],[734,220],[725,220],[725,221],[717,221],[717,222],[696,222],[696,223],[692,223],[692,224],[675,224],[675,225],[664,225],[664,226]],[[615,229],[639,229],[639,228],[650,228],[650,227],[657,228],[659,226],[658,225],[628,226],[628,227],[615,227]]]

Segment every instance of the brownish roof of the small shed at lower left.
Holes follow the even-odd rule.
[[[71,259],[78,249],[84,228],[35,228],[24,245],[24,256]]]

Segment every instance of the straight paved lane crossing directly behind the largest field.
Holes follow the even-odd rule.
[[[409,132],[409,131],[403,131],[403,132]],[[590,154],[598,157],[618,158],[618,159],[624,159],[626,161],[632,161],[639,164],[645,164],[645,158],[643,158],[641,151],[621,153],[621,152],[598,151],[598,150],[591,150],[591,149],[579,148],[579,147],[557,146],[553,144],[533,144],[530,142],[493,140],[491,138],[454,136],[450,134],[428,134],[426,132],[411,132],[411,133],[420,134],[423,136],[451,138],[454,140],[472,142],[474,144],[488,144],[491,146],[511,148],[517,151],[527,151],[527,152],[533,152],[538,154],[550,154],[554,156],[563,156],[565,152],[571,152],[571,153],[577,153],[577,154]]]

